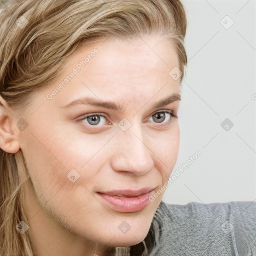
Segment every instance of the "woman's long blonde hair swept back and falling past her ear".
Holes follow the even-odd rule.
[[[18,26],[20,19],[25,20],[25,27]],[[0,12],[0,94],[17,112],[25,111],[31,93],[50,84],[68,56],[81,45],[104,37],[169,38],[182,81],[187,64],[186,27],[180,0],[14,0]],[[15,230],[21,220],[29,223],[21,203],[29,175],[20,150],[9,154],[0,149],[0,176],[0,254],[32,256],[27,232],[18,235]],[[113,255],[130,255],[131,251],[153,255],[162,224],[161,205],[145,240],[114,248]]]

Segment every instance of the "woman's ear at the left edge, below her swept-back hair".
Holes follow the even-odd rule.
[[[0,95],[0,148],[11,154],[19,151],[19,141],[17,139],[17,129],[13,129],[15,123],[13,114],[8,107],[7,102]]]

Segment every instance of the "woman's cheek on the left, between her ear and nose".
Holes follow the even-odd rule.
[[[98,169],[95,161],[99,149],[109,137],[96,140],[90,136],[82,140],[74,132],[51,129],[37,129],[33,135],[24,138],[24,156],[34,185],[37,198],[43,203],[51,200],[58,191],[67,199],[77,187],[85,184],[88,188]],[[102,156],[102,155],[101,155]],[[86,189],[81,185],[81,189]],[[83,191],[83,194],[84,193]],[[88,194],[88,197],[90,194]],[[51,203],[51,202],[50,202]],[[49,203],[49,204],[50,204]]]

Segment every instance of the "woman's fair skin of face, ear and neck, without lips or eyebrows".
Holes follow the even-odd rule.
[[[94,48],[99,53],[47,99]],[[76,50],[54,82],[33,92],[22,114],[25,130],[17,128],[17,113],[0,98],[1,148],[13,154],[21,150],[31,178],[23,203],[35,255],[103,255],[109,246],[131,246],[146,237],[163,193],[141,211],[123,213],[96,192],[148,186],[158,191],[168,181],[178,157],[178,118],[166,113],[161,123],[153,116],[163,110],[177,115],[180,101],[156,109],[152,105],[179,94],[179,80],[169,75],[176,66],[178,57],[166,39],[108,38]],[[92,105],[61,108],[87,96],[119,103],[122,111]],[[88,118],[76,121],[90,113],[106,118],[97,126]],[[118,127],[123,118],[131,123],[125,132]],[[80,175],[74,183],[67,178],[72,169]],[[118,229],[123,221],[131,227],[125,234]]]

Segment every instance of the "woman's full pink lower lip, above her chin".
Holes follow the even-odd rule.
[[[109,194],[97,193],[108,205],[119,212],[136,212],[144,209],[149,203],[152,191],[138,197],[118,197]]]

